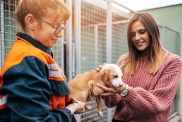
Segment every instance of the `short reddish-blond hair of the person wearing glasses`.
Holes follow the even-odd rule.
[[[34,17],[46,16],[47,10],[55,11],[55,20],[66,21],[70,16],[67,5],[61,0],[20,0],[15,10],[15,19],[25,29],[25,17],[32,14]]]

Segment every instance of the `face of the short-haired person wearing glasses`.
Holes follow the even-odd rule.
[[[41,23],[36,27],[33,37],[45,47],[53,47],[63,35],[63,30],[55,34],[56,29],[63,26],[63,22],[56,22],[54,20],[53,11],[49,11],[46,17],[37,18],[37,20],[41,21]]]

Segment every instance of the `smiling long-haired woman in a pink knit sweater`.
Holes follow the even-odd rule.
[[[166,122],[182,61],[161,46],[159,29],[148,13],[133,16],[127,36],[129,52],[117,62],[125,85],[117,90],[100,86],[105,95],[110,94],[104,97],[106,106],[116,106],[112,121]]]

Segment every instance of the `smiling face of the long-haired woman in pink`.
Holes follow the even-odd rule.
[[[149,33],[140,21],[136,21],[131,25],[132,43],[139,51],[147,53],[150,39]]]

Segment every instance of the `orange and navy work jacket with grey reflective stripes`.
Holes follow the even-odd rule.
[[[22,33],[0,75],[0,122],[71,122],[70,91],[50,49]]]

